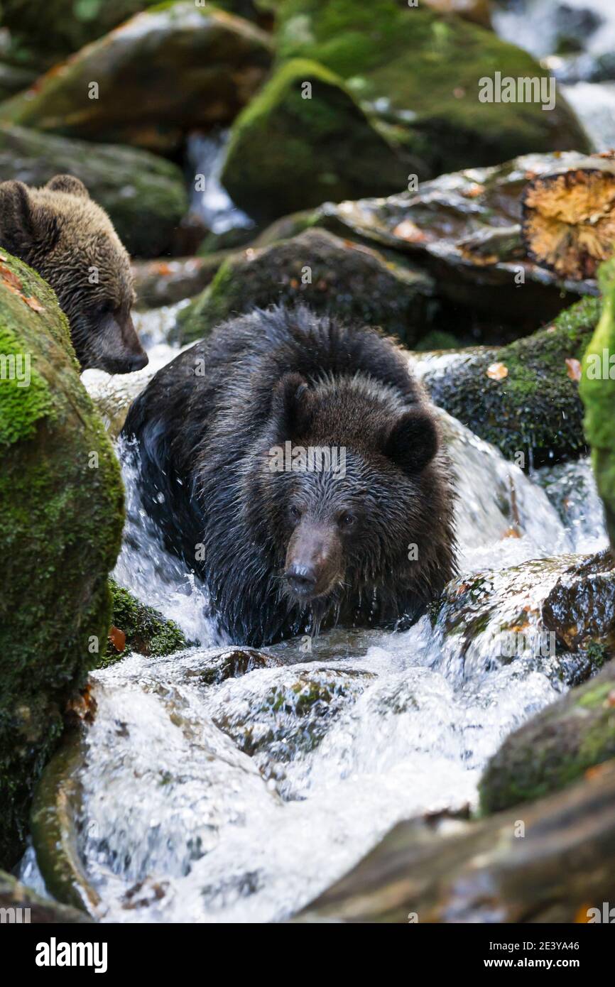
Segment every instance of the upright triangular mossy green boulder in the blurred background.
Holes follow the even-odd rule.
[[[409,169],[342,79],[297,59],[235,121],[221,179],[263,222],[325,199],[401,191]]]

